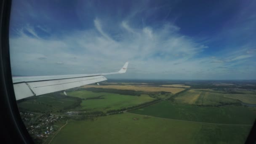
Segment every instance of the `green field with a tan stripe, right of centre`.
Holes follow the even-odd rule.
[[[176,103],[196,104],[205,106],[218,106],[223,104],[239,104],[237,99],[230,99],[226,96],[234,94],[223,93],[221,91],[191,89],[175,97]]]

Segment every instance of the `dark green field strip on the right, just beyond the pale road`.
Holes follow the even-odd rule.
[[[132,111],[140,115],[151,115],[177,120],[188,120],[205,123],[253,124],[256,108],[243,106],[203,107],[191,104],[174,104],[162,101]]]

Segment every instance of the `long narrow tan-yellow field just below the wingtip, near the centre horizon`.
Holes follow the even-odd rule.
[[[163,87],[150,87],[150,86],[135,86],[135,85],[84,85],[83,88],[114,88],[120,90],[134,90],[134,91],[166,91],[171,93],[179,93],[184,91],[184,88],[163,88]]]

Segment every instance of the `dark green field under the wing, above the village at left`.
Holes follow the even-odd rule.
[[[71,107],[76,103],[77,99],[72,97],[59,96],[58,93],[49,93],[18,102],[18,106],[22,110],[31,112],[55,112]]]

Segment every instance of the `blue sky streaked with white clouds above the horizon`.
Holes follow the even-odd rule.
[[[256,79],[255,0],[13,0],[12,75]]]

